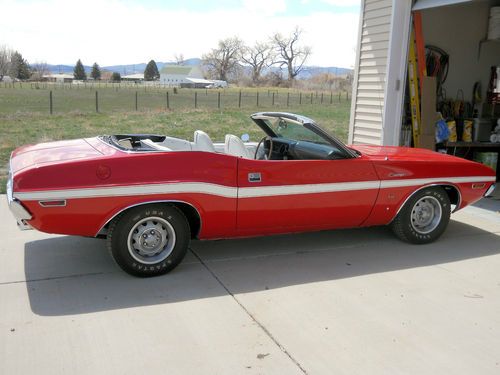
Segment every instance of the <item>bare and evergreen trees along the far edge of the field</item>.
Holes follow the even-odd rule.
[[[253,45],[245,45],[238,37],[220,40],[215,48],[202,56],[202,69],[207,78],[222,81],[241,81],[247,77],[252,84],[263,81],[272,85],[291,86],[295,78],[304,69],[304,64],[311,55],[311,48],[301,41],[302,30],[295,27],[288,35],[275,33],[266,40]],[[178,65],[184,64],[183,55],[175,56]],[[272,69],[276,67],[277,69]],[[26,80],[42,79],[49,74],[46,63],[30,65],[18,51],[0,46],[0,81],[5,75]],[[106,79],[120,81],[119,72],[106,72]],[[76,80],[87,80],[87,73],[80,59],[73,68]],[[100,80],[103,72],[97,62],[92,65],[90,77]],[[144,80],[155,81],[160,78],[154,60],[149,61],[144,71]]]

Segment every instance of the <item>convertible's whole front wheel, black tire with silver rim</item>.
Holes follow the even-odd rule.
[[[393,220],[393,232],[401,240],[426,244],[439,238],[450,221],[450,198],[440,187],[415,193]]]

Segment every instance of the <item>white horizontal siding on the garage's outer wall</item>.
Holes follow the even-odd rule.
[[[349,143],[382,144],[392,0],[362,1]]]

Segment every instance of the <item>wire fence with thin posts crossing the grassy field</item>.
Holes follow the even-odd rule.
[[[331,106],[349,92],[288,89],[188,89],[134,83],[0,83],[0,114],[168,111]]]

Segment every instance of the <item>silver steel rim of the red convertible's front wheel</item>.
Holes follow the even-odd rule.
[[[443,210],[441,203],[435,197],[420,198],[411,210],[411,226],[420,234],[428,234],[436,229],[441,222]]]

